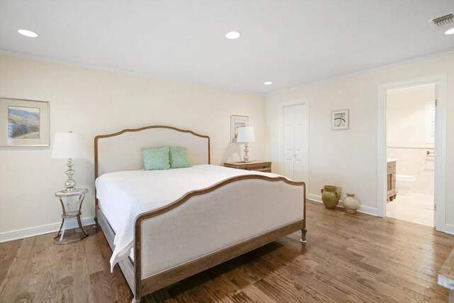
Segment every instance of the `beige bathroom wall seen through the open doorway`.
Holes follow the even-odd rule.
[[[433,195],[435,158],[426,155],[433,153],[433,143],[426,143],[426,102],[434,104],[435,94],[435,84],[387,94],[387,157],[397,158],[397,174],[416,178],[411,191],[417,194]]]

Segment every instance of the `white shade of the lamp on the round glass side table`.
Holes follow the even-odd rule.
[[[84,158],[87,155],[85,135],[82,133],[55,133],[52,158]]]

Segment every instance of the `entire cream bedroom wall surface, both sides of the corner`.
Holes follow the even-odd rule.
[[[374,213],[377,87],[441,73],[448,75],[446,217],[454,224],[454,55],[268,94],[266,108],[260,94],[0,55],[0,96],[50,101],[51,145],[56,132],[87,135],[89,156],[74,160],[78,186],[90,189],[84,217],[94,214],[96,134],[150,124],[189,128],[211,136],[212,162],[221,164],[240,159],[240,146],[229,143],[230,115],[246,115],[255,126],[251,158],[272,160],[279,173],[279,103],[303,98],[310,102],[309,197],[319,197],[323,184],[338,184],[343,192],[357,193],[363,210]],[[335,109],[350,109],[348,131],[331,131]],[[64,170],[65,160],[51,159],[50,148],[0,147],[0,236],[60,221],[53,193],[63,186]]]

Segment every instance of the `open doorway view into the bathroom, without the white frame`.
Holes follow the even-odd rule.
[[[434,226],[436,84],[387,90],[386,216]]]

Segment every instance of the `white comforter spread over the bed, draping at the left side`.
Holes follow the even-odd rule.
[[[170,204],[194,189],[203,189],[238,175],[279,175],[216,165],[195,165],[173,170],[110,172],[96,179],[96,197],[116,235],[111,270],[127,258],[134,245],[138,215]]]

